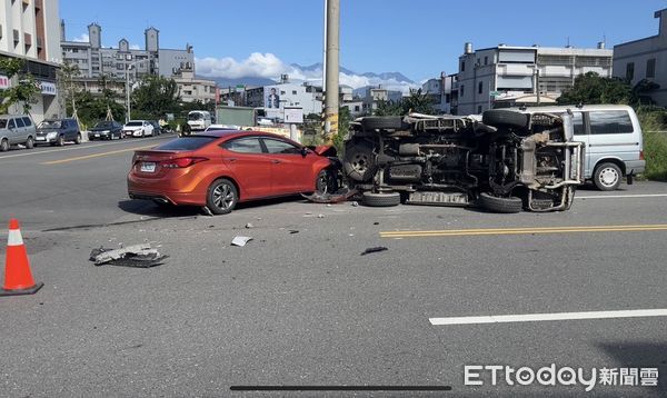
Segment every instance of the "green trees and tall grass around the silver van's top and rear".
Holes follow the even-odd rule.
[[[558,99],[559,105],[616,103],[635,109],[644,132],[644,178],[667,181],[667,109],[653,105],[648,94],[659,86],[641,80],[630,86],[627,80],[604,78],[595,72],[575,79],[574,87]]]

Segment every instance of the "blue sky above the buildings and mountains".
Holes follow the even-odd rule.
[[[399,71],[415,81],[456,72],[466,41],[594,48],[657,34],[654,11],[667,0],[340,0],[340,63],[356,72]],[[102,44],[143,29],[160,46],[193,46],[198,72],[272,77],[322,59],[323,0],[60,0],[67,39],[102,27]]]

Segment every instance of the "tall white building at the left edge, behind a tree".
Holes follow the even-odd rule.
[[[0,57],[27,60],[28,71],[41,84],[32,105],[36,122],[59,117],[56,71],[61,62],[58,0],[0,0]],[[0,90],[17,83],[0,71]],[[22,105],[10,109],[22,112]]]

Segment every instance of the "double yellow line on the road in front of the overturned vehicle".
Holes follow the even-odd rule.
[[[666,223],[644,226],[586,226],[586,227],[538,227],[538,228],[486,228],[486,229],[450,229],[434,231],[382,231],[381,238],[424,238],[424,237],[462,237],[484,235],[529,235],[529,233],[571,233],[571,232],[631,232],[663,231]]]

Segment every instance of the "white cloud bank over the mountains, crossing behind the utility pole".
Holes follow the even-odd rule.
[[[302,82],[308,81],[312,84],[321,84],[322,70],[306,70],[292,64],[288,64],[272,53],[253,52],[245,60],[237,61],[231,57],[226,58],[197,58],[195,60],[197,74],[210,78],[266,78],[279,80],[280,74],[288,74],[290,81]],[[365,86],[382,86],[389,90],[399,90],[405,93],[416,84],[410,84],[396,79],[380,79],[375,77],[366,77],[360,74],[340,72],[340,83],[350,86],[354,89]]]

